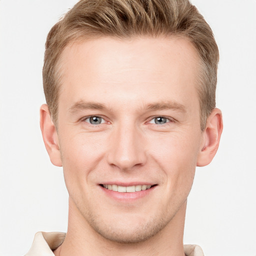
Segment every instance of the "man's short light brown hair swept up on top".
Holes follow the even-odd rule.
[[[209,25],[189,0],[80,0],[49,31],[45,43],[43,89],[57,125],[59,59],[73,41],[100,36],[173,35],[187,38],[201,60],[201,130],[215,107],[218,47]]]

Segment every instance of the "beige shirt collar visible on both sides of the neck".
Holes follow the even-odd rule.
[[[55,250],[64,240],[65,233],[61,232],[37,232],[30,250],[24,256],[54,256]],[[184,245],[186,256],[204,256],[198,245]]]

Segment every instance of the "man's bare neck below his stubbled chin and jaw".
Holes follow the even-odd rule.
[[[68,228],[63,243],[54,251],[55,256],[113,256],[169,255],[184,256],[183,230],[186,201],[175,216],[157,234],[137,243],[111,241],[98,234],[80,214],[69,198]]]

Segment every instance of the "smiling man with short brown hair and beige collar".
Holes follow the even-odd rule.
[[[187,0],[81,0],[45,46],[40,126],[68,228],[26,255],[203,255],[182,242],[195,166],[222,131],[203,17]]]

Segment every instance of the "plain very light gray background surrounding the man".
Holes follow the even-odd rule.
[[[65,231],[67,192],[39,129],[46,34],[76,0],[0,0],[0,255],[22,255],[34,233]],[[192,0],[220,49],[224,130],[197,168],[184,243],[205,255],[256,255],[256,0]]]

